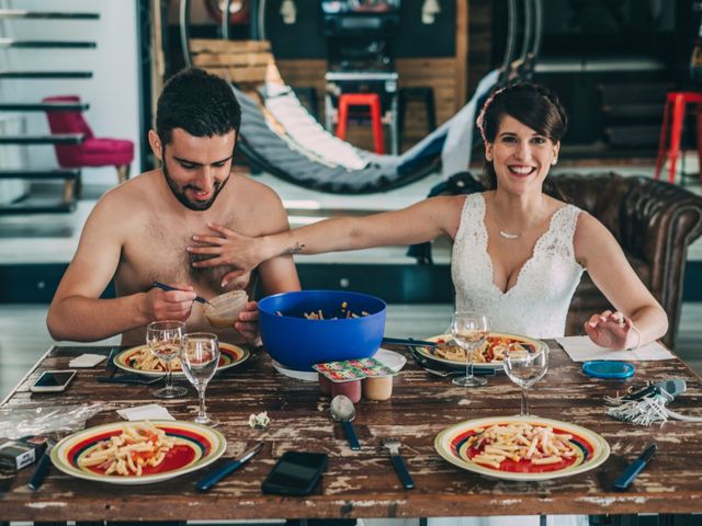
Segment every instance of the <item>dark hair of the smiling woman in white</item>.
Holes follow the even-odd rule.
[[[543,85],[521,82],[497,90],[485,103],[478,127],[483,139],[494,142],[502,118],[509,115],[534,132],[557,142],[568,128],[568,116],[555,93]],[[491,161],[485,163],[485,175],[492,188],[497,175]]]

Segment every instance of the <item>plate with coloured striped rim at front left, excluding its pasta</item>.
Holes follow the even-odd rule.
[[[219,458],[227,446],[224,435],[212,427],[194,422],[154,421],[151,424],[173,441],[158,466],[144,467],[143,473],[136,476],[105,474],[106,468],[102,466],[82,465],[81,459],[100,448],[101,442],[122,435],[126,425],[139,424],[141,422],[114,422],[73,433],[52,449],[52,461],[59,470],[79,479],[111,484],[149,484],[204,468]]]

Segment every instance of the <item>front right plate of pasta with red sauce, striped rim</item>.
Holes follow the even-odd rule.
[[[609,444],[597,433],[539,416],[462,422],[439,433],[434,447],[460,468],[523,481],[582,473],[610,456]]]

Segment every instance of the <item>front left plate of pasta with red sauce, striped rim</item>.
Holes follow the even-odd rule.
[[[80,479],[148,484],[204,468],[226,447],[222,433],[194,422],[115,422],[67,436],[52,461]]]

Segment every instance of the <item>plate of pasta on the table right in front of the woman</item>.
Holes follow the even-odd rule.
[[[427,341],[437,342],[439,345],[435,347],[417,347],[417,352],[421,356],[446,367],[465,367],[466,352],[455,343],[451,334],[428,338]],[[505,351],[512,343],[534,348],[540,345],[546,345],[540,340],[526,336],[490,332],[487,335],[487,341],[473,350],[473,365],[475,367],[501,369]]]

